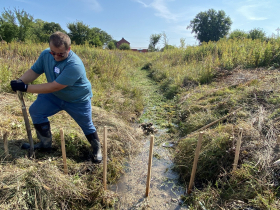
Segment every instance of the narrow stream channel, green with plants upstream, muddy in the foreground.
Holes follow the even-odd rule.
[[[147,71],[139,70],[134,80],[145,100],[140,122],[134,126],[153,123],[156,132],[143,135],[141,151],[128,160],[120,180],[109,186],[109,190],[119,195],[115,209],[187,209],[180,199],[185,192],[185,184],[178,182],[179,176],[172,170],[172,134],[165,128],[170,124],[168,116],[172,112],[172,101],[164,98],[159,86],[148,77]],[[155,143],[150,193],[146,198],[150,135],[154,135]]]

